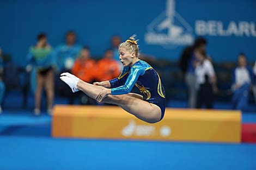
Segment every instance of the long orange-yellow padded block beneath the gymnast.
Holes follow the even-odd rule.
[[[162,121],[150,124],[118,106],[56,105],[52,136],[239,143],[241,112],[167,108]]]

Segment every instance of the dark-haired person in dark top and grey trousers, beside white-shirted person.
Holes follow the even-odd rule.
[[[179,66],[188,87],[189,108],[195,108],[197,102],[196,75],[194,73],[196,67],[195,52],[205,53],[206,44],[206,40],[199,37],[194,41],[194,45],[185,48],[180,56]]]

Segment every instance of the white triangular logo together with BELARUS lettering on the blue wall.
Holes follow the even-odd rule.
[[[224,24],[215,20],[196,20],[195,34],[199,36],[237,36],[256,37],[254,21],[230,21]],[[194,41],[193,29],[175,11],[175,1],[167,0],[166,11],[147,26],[145,42],[151,45],[161,45],[164,48],[174,48],[180,45],[191,45]]]

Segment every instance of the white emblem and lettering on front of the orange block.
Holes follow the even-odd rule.
[[[159,131],[160,135],[163,137],[167,137],[171,134],[171,129],[168,126],[163,126]],[[156,135],[155,125],[138,125],[135,121],[130,120],[129,124],[123,128],[121,134],[124,136],[150,136]]]

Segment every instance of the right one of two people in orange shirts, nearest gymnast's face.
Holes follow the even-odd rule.
[[[113,57],[113,50],[107,49],[103,59],[98,61],[96,73],[97,81],[106,81],[118,77],[120,74],[119,64]]]

